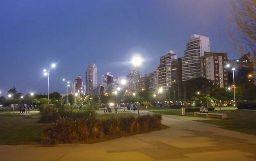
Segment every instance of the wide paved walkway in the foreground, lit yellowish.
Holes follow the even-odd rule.
[[[256,161],[256,136],[172,116],[162,123],[171,128],[96,144],[0,146],[0,161]]]

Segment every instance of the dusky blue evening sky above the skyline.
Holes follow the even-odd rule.
[[[160,56],[184,55],[191,34],[210,38],[213,52],[232,56],[229,0],[0,0],[0,91],[15,86],[22,93],[47,93],[43,69],[50,73],[50,92],[65,93],[87,65],[101,75],[124,76],[134,67],[134,53],[153,71]]]

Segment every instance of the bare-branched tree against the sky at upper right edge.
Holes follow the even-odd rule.
[[[232,1],[234,20],[236,23],[236,34],[232,34],[236,51],[251,60],[249,65],[242,62],[234,62],[241,67],[256,66],[256,0]],[[251,58],[247,53],[253,54]]]

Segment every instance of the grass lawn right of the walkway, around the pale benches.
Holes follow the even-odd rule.
[[[211,112],[212,113],[212,112]],[[256,111],[250,110],[231,110],[231,111],[213,111],[213,113],[227,113],[228,119],[222,120],[201,120],[208,124],[216,124],[226,127],[227,130],[239,131],[256,135]],[[189,113],[189,115],[191,115]],[[192,115],[194,115],[192,113]]]

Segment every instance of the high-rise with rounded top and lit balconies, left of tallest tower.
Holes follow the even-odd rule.
[[[167,51],[165,56],[160,58],[160,66],[158,67],[158,86],[163,88],[163,92],[167,91],[167,86],[172,84],[171,80],[171,62],[177,59],[174,51]]]

